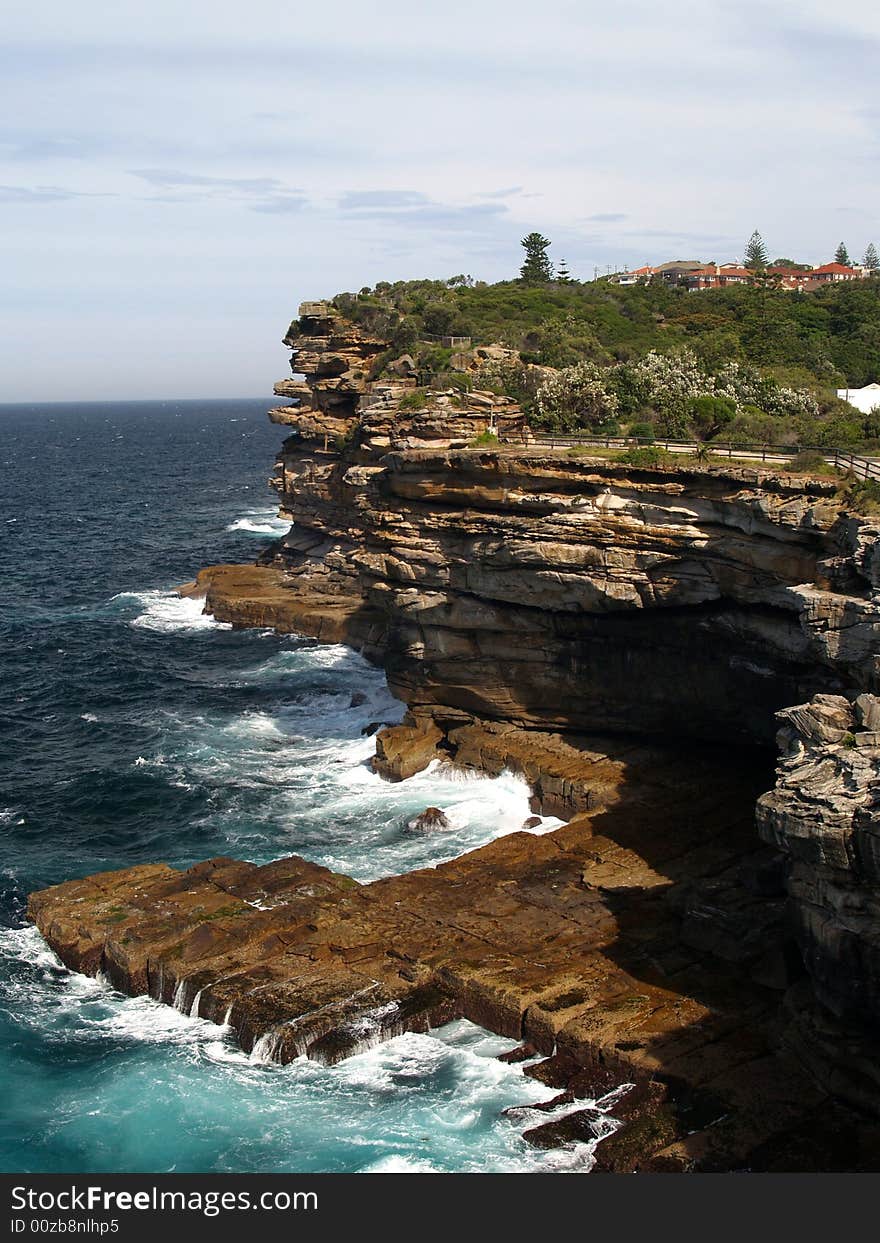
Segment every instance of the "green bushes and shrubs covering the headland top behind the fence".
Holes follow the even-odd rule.
[[[543,247],[546,239],[537,239]],[[809,293],[771,285],[689,293],[661,282],[621,287],[542,271],[536,283],[465,276],[379,282],[341,293],[334,305],[390,341],[379,369],[405,351],[433,385],[450,387],[460,375],[455,352],[440,344],[444,336],[518,351],[520,360],[493,364],[475,387],[510,394],[536,426],[598,431],[616,424],[640,438],[880,445],[880,416],[835,395],[880,378],[880,275]],[[573,369],[568,380],[580,394],[567,395],[544,368]]]

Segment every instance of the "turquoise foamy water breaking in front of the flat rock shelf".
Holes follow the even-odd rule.
[[[37,1158],[62,1139],[66,1167],[81,1172],[580,1172],[593,1163],[594,1144],[543,1152],[522,1139],[572,1106],[528,1110],[553,1090],[522,1064],[497,1060],[510,1040],[464,1019],[337,1066],[261,1064],[226,1028],[66,971],[34,929],[0,931],[0,1008],[19,1014],[16,1060],[26,1063],[26,1044],[36,1043],[55,1070],[51,1101],[15,1103]],[[503,1115],[516,1105],[521,1112]]]

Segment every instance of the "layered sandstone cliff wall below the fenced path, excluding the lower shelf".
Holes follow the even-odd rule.
[[[273,564],[353,602],[416,717],[772,743],[778,709],[875,689],[876,528],[832,481],[537,452],[491,393],[411,410],[390,385],[339,434],[324,359],[364,343],[327,331],[297,338],[309,404],[272,411],[293,429]],[[490,428],[497,449],[466,447]]]

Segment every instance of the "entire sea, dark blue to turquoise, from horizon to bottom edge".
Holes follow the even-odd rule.
[[[261,401],[0,406],[0,1168],[579,1168],[500,1116],[539,1086],[466,1023],[326,1069],[65,971],[31,889],[142,861],[297,851],[372,879],[516,829],[511,777],[367,767],[394,720],[343,648],[232,631],[175,584],[286,530]],[[352,692],[365,700],[352,707]],[[452,828],[408,829],[426,804]]]

